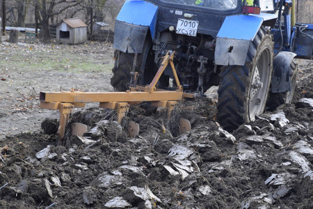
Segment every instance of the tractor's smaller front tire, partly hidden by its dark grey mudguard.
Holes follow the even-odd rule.
[[[279,93],[269,93],[268,100],[266,102],[266,109],[268,111],[274,111],[282,104],[290,104],[294,97],[294,91],[296,89],[296,77],[298,71],[298,64],[295,60],[291,61],[289,68],[292,70],[290,77],[291,89],[290,91],[284,91]]]

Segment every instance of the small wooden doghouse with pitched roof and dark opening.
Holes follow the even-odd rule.
[[[64,19],[56,27],[56,42],[79,44],[87,40],[87,25],[79,18]]]

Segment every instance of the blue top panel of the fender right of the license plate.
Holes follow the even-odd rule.
[[[262,22],[262,17],[250,15],[228,16],[225,18],[220,31],[218,31],[217,37],[253,40]]]

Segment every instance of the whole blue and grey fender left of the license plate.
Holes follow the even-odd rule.
[[[121,52],[142,53],[148,31],[155,35],[158,7],[147,1],[125,1],[115,20],[113,47]]]

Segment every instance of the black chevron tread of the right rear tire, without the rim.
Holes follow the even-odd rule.
[[[232,131],[246,122],[247,97],[249,84],[249,72],[252,64],[256,62],[255,56],[262,42],[271,41],[272,37],[261,27],[250,43],[246,64],[228,65],[221,68],[220,85],[218,88],[218,120],[220,125],[228,131]],[[273,47],[273,43],[272,43]]]

